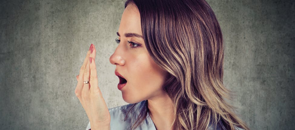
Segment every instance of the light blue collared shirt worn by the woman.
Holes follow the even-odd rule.
[[[142,101],[136,104],[133,109],[131,109],[131,112],[128,114],[128,118],[124,121],[124,118],[126,116],[126,111],[128,110],[129,107],[132,106],[132,104],[124,105],[124,106],[118,106],[109,109],[110,115],[111,115],[111,130],[130,130],[131,128],[131,119],[136,119],[138,117],[140,110],[143,106],[145,106],[145,103],[147,101]],[[221,130],[222,124],[217,123],[217,128],[216,130]],[[90,129],[90,122],[88,123],[88,126],[86,130]],[[153,120],[151,119],[150,115],[147,114],[147,117],[145,118],[144,122],[135,130],[156,130],[156,127],[154,125]],[[209,125],[208,130],[214,130],[211,125]],[[241,128],[237,128],[236,130],[243,130]]]

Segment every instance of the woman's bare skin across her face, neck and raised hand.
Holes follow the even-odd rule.
[[[148,100],[151,119],[157,130],[174,129],[173,103],[162,89],[167,72],[148,54],[142,38],[140,14],[135,5],[125,8],[117,34],[120,42],[110,62],[116,66],[115,71],[127,80],[121,89],[124,101],[136,103]],[[88,51],[80,69],[82,76],[77,76],[75,93],[88,115],[91,129],[109,129],[110,115],[98,88],[94,61],[96,51],[95,48],[93,50],[92,54]],[[88,57],[92,57],[92,63]],[[89,78],[90,86],[83,83]]]

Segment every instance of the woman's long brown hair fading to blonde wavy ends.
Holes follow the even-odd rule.
[[[163,86],[174,104],[176,129],[205,130],[223,124],[249,128],[224,98],[224,45],[217,18],[205,0],[128,0],[137,6],[148,53],[170,75]],[[138,127],[147,110],[132,126]],[[213,124],[209,126],[210,124]]]

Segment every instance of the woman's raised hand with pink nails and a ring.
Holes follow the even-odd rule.
[[[79,75],[76,77],[78,84],[75,89],[75,94],[86,111],[91,130],[98,128],[100,130],[110,129],[111,116],[101,91],[98,88],[98,78],[94,60],[95,54],[95,47],[91,44]],[[84,83],[84,81],[89,81],[89,83]]]

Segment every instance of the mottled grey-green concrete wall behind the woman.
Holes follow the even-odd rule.
[[[85,129],[74,90],[91,43],[108,107],[126,104],[108,60],[124,1],[0,2],[0,129]],[[224,84],[237,114],[251,129],[294,129],[295,2],[208,3],[223,31]]]

